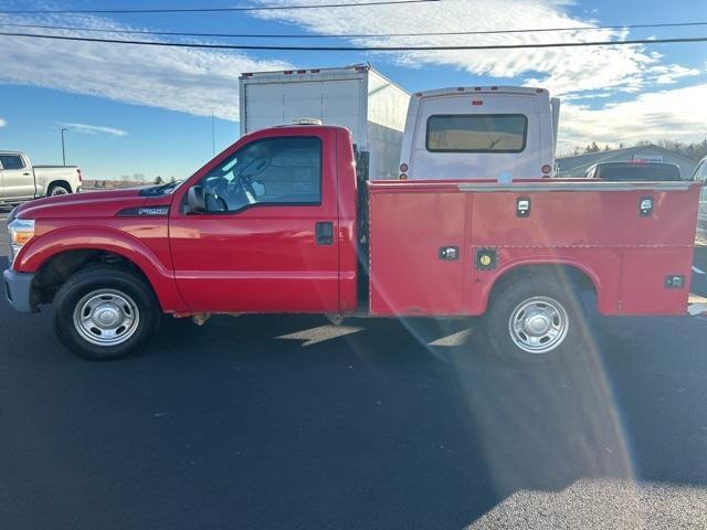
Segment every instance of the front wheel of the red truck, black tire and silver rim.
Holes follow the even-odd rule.
[[[113,266],[78,271],[54,298],[54,331],[84,359],[128,356],[157,333],[160,320],[151,287],[136,274]]]

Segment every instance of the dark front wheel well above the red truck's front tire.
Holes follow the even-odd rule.
[[[101,250],[66,251],[49,258],[38,269],[32,282],[32,303],[51,304],[56,292],[77,271],[96,265],[113,265],[138,275],[150,285],[145,273],[130,259]]]

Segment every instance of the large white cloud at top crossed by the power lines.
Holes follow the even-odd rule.
[[[303,0],[299,0],[303,1]],[[292,4],[293,0],[260,0],[264,4]],[[306,0],[327,3],[328,0]],[[288,22],[313,33],[400,33],[493,31],[499,29],[591,26],[566,14],[561,0],[445,0],[429,4],[371,6],[368,8],[320,10],[273,10],[257,17]],[[531,44],[542,42],[622,40],[626,31],[594,30],[548,33],[506,33],[454,36],[392,36],[351,39],[360,45],[460,45]],[[337,41],[339,42],[339,41]],[[553,94],[592,91],[639,92],[647,78],[663,75],[669,82],[680,75],[675,66],[668,73],[652,71],[661,55],[644,46],[595,46],[566,49],[418,51],[386,52],[400,64],[452,66],[469,74],[490,77],[521,77],[530,85],[541,85]],[[472,83],[469,81],[469,83]]]

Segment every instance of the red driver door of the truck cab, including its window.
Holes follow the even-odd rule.
[[[192,310],[338,310],[336,165],[323,158],[335,140],[256,139],[194,182],[205,211],[170,218],[176,280]]]

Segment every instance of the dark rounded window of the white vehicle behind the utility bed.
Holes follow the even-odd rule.
[[[521,152],[528,137],[523,114],[456,114],[428,118],[425,144],[434,152]]]

